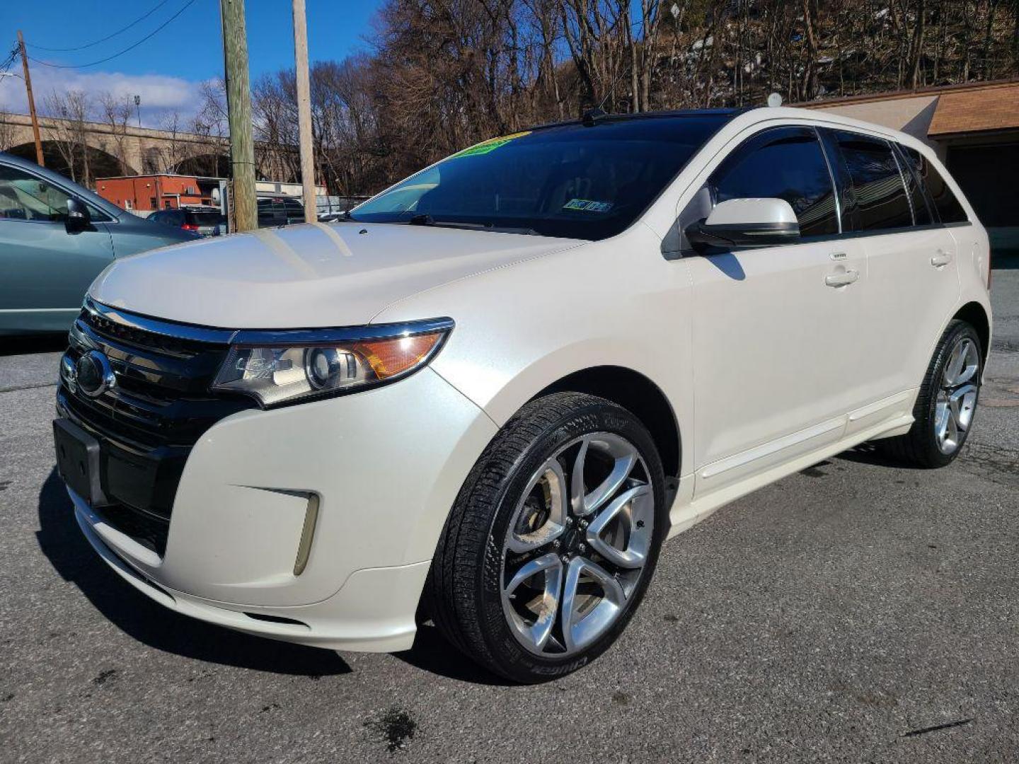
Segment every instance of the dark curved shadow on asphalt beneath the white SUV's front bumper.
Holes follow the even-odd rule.
[[[259,671],[304,676],[348,673],[331,650],[276,642],[189,618],[122,581],[86,541],[56,469],[39,494],[39,546],[65,580],[125,634],[157,650]]]

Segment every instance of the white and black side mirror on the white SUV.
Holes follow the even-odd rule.
[[[784,199],[731,199],[719,202],[706,219],[684,232],[694,249],[733,249],[795,241],[800,224]]]

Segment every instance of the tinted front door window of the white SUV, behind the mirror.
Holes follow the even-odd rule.
[[[715,203],[786,200],[796,212],[803,236],[839,232],[832,175],[811,129],[776,127],[754,135],[721,163],[708,183]]]

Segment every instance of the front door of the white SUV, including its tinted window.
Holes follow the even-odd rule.
[[[801,238],[684,258],[694,294],[698,497],[840,439],[860,395],[867,283],[862,247],[839,237],[836,183],[812,127],[744,141],[692,204],[706,198],[785,199]]]

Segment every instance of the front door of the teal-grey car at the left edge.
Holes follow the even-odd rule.
[[[113,260],[99,210],[86,230],[64,222],[70,195],[19,167],[0,164],[0,330],[63,331],[93,279]]]

